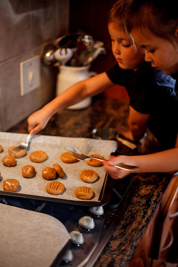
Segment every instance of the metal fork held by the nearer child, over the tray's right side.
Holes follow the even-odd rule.
[[[65,146],[65,148],[77,159],[79,160],[85,160],[85,159],[96,159],[99,161],[103,161],[103,160],[107,160],[107,159],[100,159],[97,157],[90,157],[87,156],[85,154],[83,154],[82,152],[80,152],[77,148],[75,148],[72,144],[67,144]],[[118,165],[114,165],[114,167],[119,168],[119,169],[123,169],[124,171],[138,171],[138,167],[137,166],[131,166],[131,165],[126,165],[123,163],[119,163]]]

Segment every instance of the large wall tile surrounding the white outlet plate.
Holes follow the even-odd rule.
[[[31,58],[34,54],[35,52],[29,53],[25,57],[20,56],[0,66],[3,131],[7,131],[54,97],[53,69],[50,70],[48,66],[43,65],[41,65],[41,86],[24,96],[20,96],[19,64],[26,60],[27,56]]]

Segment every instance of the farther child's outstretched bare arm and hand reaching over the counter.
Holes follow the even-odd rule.
[[[59,110],[74,105],[88,96],[98,94],[112,85],[113,83],[108,78],[106,72],[72,85],[54,100],[46,104],[42,109],[29,116],[28,131],[31,134],[38,133],[46,126],[49,119]]]

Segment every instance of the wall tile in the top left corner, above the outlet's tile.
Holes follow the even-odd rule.
[[[0,1],[0,62],[9,60],[30,49],[30,0]],[[16,10],[21,13],[16,13]]]

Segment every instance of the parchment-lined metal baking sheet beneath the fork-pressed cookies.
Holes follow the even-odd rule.
[[[110,195],[112,181],[108,181],[108,176],[103,166],[92,167],[86,161],[78,161],[75,163],[64,163],[60,159],[60,155],[66,152],[65,145],[73,144],[85,154],[99,154],[104,158],[108,158],[112,152],[117,149],[117,142],[112,140],[97,140],[90,138],[71,138],[60,136],[34,135],[30,148],[26,156],[16,159],[16,166],[7,167],[3,164],[2,158],[8,155],[8,148],[11,145],[18,145],[27,138],[27,134],[0,132],[0,144],[4,151],[0,154],[0,193],[3,195],[18,196],[24,198],[34,198],[75,204],[98,204],[107,202]],[[29,158],[31,152],[36,150],[45,151],[48,155],[47,160],[41,163],[32,162]],[[54,163],[62,166],[65,172],[63,178],[47,181],[42,178],[42,169],[44,167],[53,167]],[[33,165],[36,169],[34,178],[24,178],[21,175],[21,169],[24,165]],[[98,180],[94,183],[85,183],[80,179],[80,173],[83,169],[93,169],[98,174]],[[3,180],[14,178],[20,182],[20,187],[16,192],[5,192],[3,190]],[[111,178],[110,178],[111,179]],[[111,179],[112,180],[112,179]],[[51,181],[59,181],[65,185],[65,190],[60,195],[49,195],[46,192],[46,184]],[[108,186],[106,186],[108,183]],[[89,201],[80,200],[75,197],[74,190],[78,186],[88,186],[94,191],[94,196]],[[87,204],[87,205],[88,205]]]

